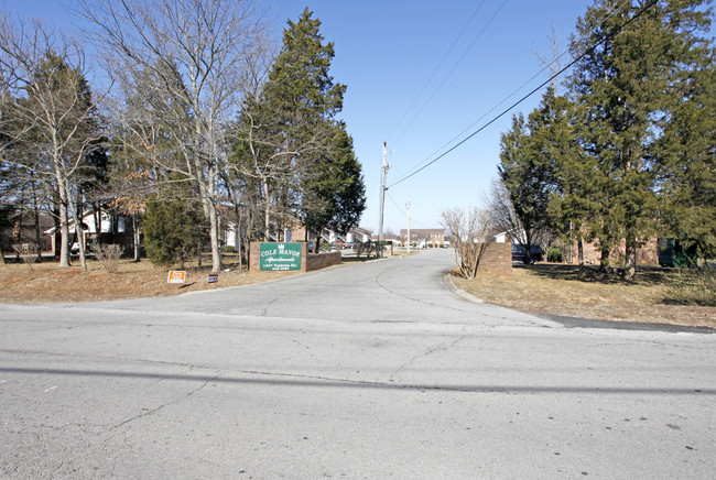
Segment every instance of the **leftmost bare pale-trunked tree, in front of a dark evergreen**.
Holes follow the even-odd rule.
[[[48,185],[57,206],[59,264],[69,265],[69,221],[77,218],[76,185],[91,144],[99,141],[82,46],[37,21],[0,18],[3,98],[2,161]],[[12,155],[19,144],[32,155]],[[85,264],[83,242],[80,258]]]

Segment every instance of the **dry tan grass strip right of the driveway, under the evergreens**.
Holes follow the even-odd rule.
[[[512,269],[512,279],[474,281],[453,272],[455,285],[485,302],[538,315],[716,328],[716,308],[676,305],[672,272],[640,270],[633,282],[595,268],[536,264]]]

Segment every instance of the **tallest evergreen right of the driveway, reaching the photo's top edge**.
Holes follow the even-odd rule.
[[[640,241],[655,231],[659,140],[684,97],[694,48],[705,42],[697,37],[709,24],[704,3],[597,0],[572,40],[573,51],[586,52],[569,86],[601,197],[593,231],[606,254],[603,266],[609,248],[625,239],[628,279]]]

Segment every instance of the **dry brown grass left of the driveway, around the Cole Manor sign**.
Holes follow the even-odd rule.
[[[210,268],[184,270],[187,279],[182,285],[166,283],[169,269],[155,266],[145,260],[139,263],[120,260],[116,273],[109,273],[100,262],[91,260],[87,262],[86,272],[83,272],[79,261],[69,268],[59,268],[55,262],[35,263],[32,270],[22,263],[9,263],[0,265],[0,302],[86,302],[177,295],[249,285],[295,274],[230,270],[219,274],[218,283],[207,283]]]

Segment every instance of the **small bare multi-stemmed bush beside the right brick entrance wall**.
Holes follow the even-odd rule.
[[[489,214],[477,207],[455,207],[442,216],[441,223],[455,248],[455,262],[465,277],[475,279],[491,229]]]

